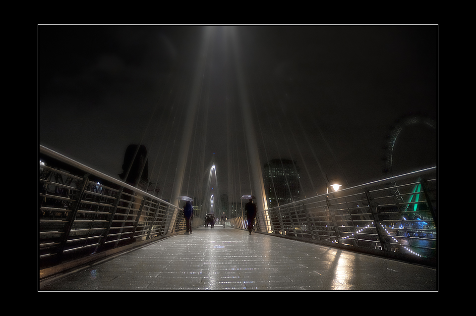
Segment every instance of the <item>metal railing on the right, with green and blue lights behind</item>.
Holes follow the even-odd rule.
[[[254,229],[436,266],[436,167],[258,211]],[[229,226],[246,229],[245,218]]]

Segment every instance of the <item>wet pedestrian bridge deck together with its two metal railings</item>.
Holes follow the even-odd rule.
[[[183,235],[177,206],[39,156],[40,291],[438,289],[436,167]]]

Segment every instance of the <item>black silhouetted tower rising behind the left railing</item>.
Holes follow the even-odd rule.
[[[127,173],[127,171],[129,172]],[[119,177],[134,187],[139,184],[140,180],[149,182],[147,149],[144,145],[127,146],[122,163],[122,173],[119,174]]]

